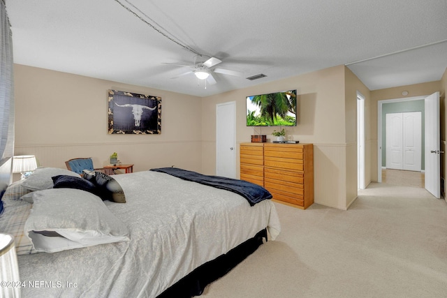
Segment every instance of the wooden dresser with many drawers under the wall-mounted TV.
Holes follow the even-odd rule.
[[[264,186],[274,200],[306,209],[314,204],[314,145],[242,143],[240,179]]]

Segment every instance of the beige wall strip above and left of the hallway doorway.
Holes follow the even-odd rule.
[[[378,179],[378,164],[377,164],[377,105],[379,100],[395,99],[395,98],[410,98],[413,96],[430,95],[441,89],[441,81],[427,82],[421,84],[413,84],[407,86],[400,86],[388,89],[380,89],[371,91],[370,115],[371,115],[371,179],[377,181]],[[406,96],[402,96],[403,91],[408,91]]]

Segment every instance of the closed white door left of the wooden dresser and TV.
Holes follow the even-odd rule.
[[[236,124],[234,101],[216,105],[216,174],[236,177]]]

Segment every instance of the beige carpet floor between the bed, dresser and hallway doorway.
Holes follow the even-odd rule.
[[[370,184],[348,211],[277,204],[282,232],[202,297],[447,297],[447,204]]]

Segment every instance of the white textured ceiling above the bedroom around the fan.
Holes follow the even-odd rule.
[[[372,90],[440,80],[447,67],[446,0],[7,0],[6,7],[17,64],[196,96],[343,64]],[[215,74],[206,89],[193,74],[172,79],[189,69],[163,63],[192,64],[195,54],[147,22],[244,77]],[[259,73],[267,77],[245,79]]]

